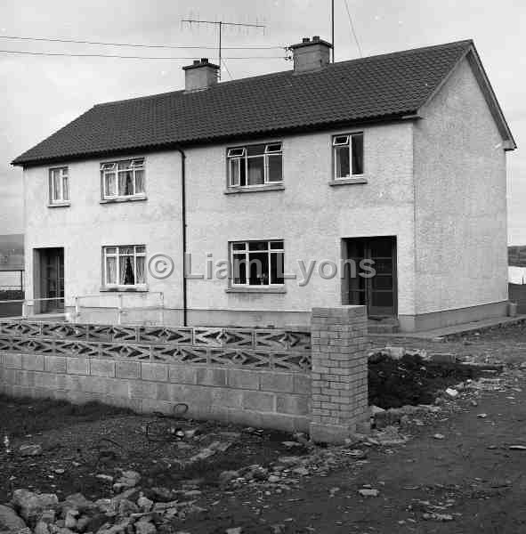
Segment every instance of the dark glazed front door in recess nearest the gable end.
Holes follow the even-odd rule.
[[[396,238],[344,239],[344,254],[345,259],[356,265],[355,271],[349,266],[346,268],[344,303],[367,306],[369,317],[395,316]],[[374,269],[373,276],[360,276],[367,272],[360,268],[362,260],[369,261],[368,265]]]

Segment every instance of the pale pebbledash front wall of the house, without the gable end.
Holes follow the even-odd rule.
[[[214,259],[227,259],[228,242],[236,239],[284,239],[286,269],[299,274],[298,260],[337,263],[343,238],[395,235],[399,312],[413,313],[412,125],[367,127],[368,183],[330,187],[331,138],[345,132],[349,130],[272,137],[272,141],[283,142],[285,190],[279,191],[227,195],[228,145],[187,150],[188,248],[194,271],[202,271],[206,253]],[[64,247],[66,303],[72,305],[75,295],[99,294],[101,247],[145,244],[149,256],[163,253],[175,262],[169,279],[149,277],[150,291],[163,291],[168,308],[182,306],[180,157],[176,151],[145,156],[148,200],[144,202],[100,204],[103,159],[69,163],[69,207],[47,206],[47,166],[24,172],[28,281],[33,278],[34,248]],[[29,298],[30,286],[28,283]],[[312,306],[341,303],[341,280],[318,275],[307,287],[287,280],[287,292],[279,295],[227,293],[228,282],[217,279],[189,280],[188,287],[190,308],[310,311]],[[101,298],[115,302],[114,296]],[[229,316],[228,322],[255,324],[262,318],[262,314],[246,313],[233,319]],[[305,320],[308,317],[296,320],[284,314],[281,320],[273,317],[271,322]]]

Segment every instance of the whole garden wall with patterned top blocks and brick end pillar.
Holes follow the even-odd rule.
[[[342,442],[367,429],[366,322],[362,306],[314,309],[312,348],[304,333],[0,322],[0,391],[142,413],[185,403],[188,417]]]

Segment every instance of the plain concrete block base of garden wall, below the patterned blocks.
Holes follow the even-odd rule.
[[[311,410],[310,373],[20,352],[0,353],[0,392],[144,413],[184,402],[189,417],[287,432],[308,431]]]

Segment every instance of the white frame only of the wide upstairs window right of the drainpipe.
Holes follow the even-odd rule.
[[[255,147],[258,145],[263,145],[263,153],[257,154],[255,156],[248,155],[248,148]],[[270,147],[279,145],[279,150],[269,150]],[[240,150],[241,154],[233,155],[235,150]],[[280,156],[281,157],[281,180],[270,180],[270,171],[269,171],[269,159],[272,157]],[[254,158],[263,158],[263,183],[257,183],[254,185],[241,185],[241,166],[245,167],[245,181],[247,182],[248,178],[248,160]],[[274,185],[280,186],[283,185],[283,142],[282,141],[272,141],[272,142],[257,142],[249,143],[245,145],[238,145],[234,147],[227,148],[226,152],[227,160],[227,189],[242,189],[250,190],[257,188],[271,187]],[[243,160],[243,163],[242,163]],[[232,181],[232,162],[239,161],[238,172],[235,182]]]

